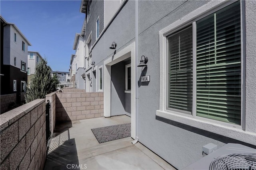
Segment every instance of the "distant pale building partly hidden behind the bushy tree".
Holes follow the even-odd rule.
[[[36,51],[28,51],[28,88],[30,88],[31,78],[35,73],[35,68],[40,61],[44,60]]]

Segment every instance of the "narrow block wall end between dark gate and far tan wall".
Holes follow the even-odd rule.
[[[52,137],[56,122],[56,92],[47,94],[45,98],[46,102],[47,100],[50,102],[50,132]]]

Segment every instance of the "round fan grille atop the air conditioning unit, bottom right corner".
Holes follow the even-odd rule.
[[[210,170],[256,170],[256,153],[233,153],[214,158]]]

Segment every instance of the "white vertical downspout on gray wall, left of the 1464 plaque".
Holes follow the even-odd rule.
[[[138,17],[139,17],[139,4],[138,0],[135,1],[135,78],[136,81],[139,80],[139,69],[137,67],[138,61],[139,61],[139,22],[138,22]],[[132,144],[136,144],[139,140],[139,86],[138,83],[135,82],[135,139],[132,141]]]

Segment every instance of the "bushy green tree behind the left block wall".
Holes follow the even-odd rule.
[[[26,88],[26,103],[36,99],[45,98],[56,90],[57,84],[60,83],[57,76],[51,76],[52,69],[47,65],[46,60],[42,60],[36,65],[34,76],[31,78],[30,88]]]

